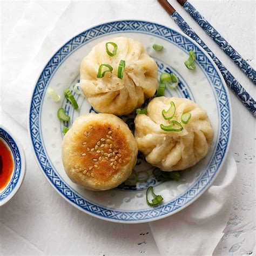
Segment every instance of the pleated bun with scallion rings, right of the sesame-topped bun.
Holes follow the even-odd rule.
[[[172,107],[171,102],[174,103]],[[163,110],[167,111],[165,117],[170,118],[172,114],[174,117],[166,120]],[[191,114],[187,124],[181,122],[185,113]],[[190,114],[183,116],[185,122],[184,117]],[[171,128],[180,131],[165,131],[173,120]],[[165,125],[165,130],[160,124]],[[146,114],[138,114],[135,118],[135,138],[148,163],[163,171],[178,171],[195,165],[206,156],[212,144],[213,129],[206,111],[190,99],[157,97],[147,106]]]

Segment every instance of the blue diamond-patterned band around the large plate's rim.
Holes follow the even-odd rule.
[[[188,191],[180,195],[179,198],[174,199],[166,204],[160,205],[156,208],[151,208],[145,211],[117,211],[106,207],[102,207],[85,199],[81,198],[75,191],[71,190],[63,180],[56,174],[46,157],[45,150],[42,143],[42,137],[40,134],[40,109],[43,100],[44,90],[47,86],[52,73],[57,66],[63,62],[63,60],[82,44],[90,41],[95,37],[116,33],[116,32],[141,32],[151,35],[156,35],[167,39],[170,42],[175,43],[185,51],[193,50],[197,54],[197,62],[201,68],[207,73],[208,78],[214,87],[215,93],[218,97],[218,104],[220,110],[220,135],[217,142],[217,150],[212,157],[210,166],[202,174],[201,178],[191,187]],[[165,26],[145,22],[145,21],[117,21],[111,23],[105,23],[103,25],[95,26],[89,30],[80,33],[78,36],[72,38],[62,48],[60,48],[55,55],[50,59],[45,69],[39,76],[35,90],[33,91],[31,106],[30,106],[30,120],[29,130],[32,140],[33,149],[36,154],[36,158],[42,167],[45,175],[51,181],[53,186],[63,194],[63,196],[70,200],[74,205],[82,208],[86,212],[97,215],[99,218],[109,219],[111,221],[120,222],[143,222],[163,217],[171,212],[176,212],[180,208],[185,207],[194,198],[198,197],[200,193],[204,191],[206,186],[211,183],[211,180],[218,172],[219,167],[225,157],[231,131],[231,116],[230,116],[230,103],[228,102],[228,96],[226,88],[221,82],[221,78],[217,69],[208,59],[208,57],[201,51],[200,48],[190,39],[180,35],[180,33],[166,28]]]

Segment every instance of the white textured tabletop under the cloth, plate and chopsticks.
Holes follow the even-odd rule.
[[[145,9],[134,6],[139,1],[113,4],[105,1],[119,18],[140,18],[163,23],[166,18],[157,1],[144,1]],[[186,12],[170,1],[186,21],[198,32],[208,46],[255,98],[255,86],[243,75],[218,46],[192,21]],[[50,2],[49,2],[50,3]],[[191,3],[210,21],[235,49],[255,66],[255,1],[192,1]],[[29,1],[6,1],[1,6],[2,51],[9,32],[21,17]],[[103,1],[99,5],[103,5]],[[116,6],[116,8],[115,8]],[[125,6],[125,11],[124,11]],[[110,8],[112,7],[112,8]],[[85,10],[90,9],[90,1]],[[115,15],[116,16],[116,15]],[[99,14],[96,22],[103,22]],[[169,21],[169,20],[168,20]],[[90,26],[86,24],[85,26]],[[173,25],[170,19],[166,25]],[[17,51],[18,49],[14,49]],[[6,61],[6,60],[5,60]],[[230,93],[233,106],[234,129],[231,152],[238,165],[233,209],[225,235],[215,249],[216,255],[255,254],[255,119]],[[8,112],[8,110],[5,110]],[[8,114],[2,113],[1,123],[20,134],[26,154],[31,154],[26,131]],[[27,163],[27,173],[19,193],[0,210],[0,254],[87,254],[87,255],[158,255],[148,224],[120,225],[95,220],[70,206],[40,173],[36,162]],[[35,183],[36,181],[36,183]],[[41,184],[41,186],[38,186]],[[26,200],[24,200],[26,198]],[[52,207],[54,205],[55,207]],[[63,225],[69,233],[63,233]],[[90,232],[88,232],[90,230]],[[211,231],[209,231],[209,239]],[[18,248],[18,251],[17,251]],[[173,252],[173,255],[178,252]]]

